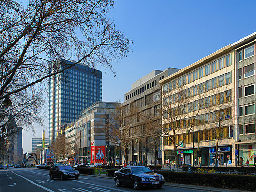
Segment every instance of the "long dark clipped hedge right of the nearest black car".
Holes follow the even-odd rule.
[[[256,190],[256,177],[249,175],[186,173],[156,171],[164,176],[166,182],[210,186],[224,189]]]

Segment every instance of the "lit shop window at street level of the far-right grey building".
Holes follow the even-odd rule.
[[[256,156],[256,144],[240,144],[239,145],[239,157],[243,158],[243,165],[249,160],[249,165],[253,165],[254,157]]]

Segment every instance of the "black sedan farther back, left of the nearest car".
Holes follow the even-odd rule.
[[[59,166],[54,166],[49,171],[49,176],[50,176],[50,179],[54,179],[55,177],[58,177],[61,180],[72,178],[72,177],[74,177],[75,179],[78,179],[79,171],[73,169],[69,165],[59,165]]]

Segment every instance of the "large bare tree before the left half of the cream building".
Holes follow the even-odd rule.
[[[147,122],[147,129],[173,146],[176,165],[179,165],[178,147],[196,126],[196,117],[203,106],[204,97],[203,86],[189,88],[183,83],[174,81],[164,86],[152,98],[150,114],[140,113]]]

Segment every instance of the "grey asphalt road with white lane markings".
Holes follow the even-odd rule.
[[[0,170],[1,192],[28,192],[28,191],[63,191],[63,192],[125,192],[135,191],[132,187],[116,187],[113,179],[80,175],[78,180],[51,180],[48,170],[37,168],[10,168]],[[163,186],[161,189],[146,188],[140,191],[198,191],[178,187]],[[201,190],[202,191],[202,190]]]

